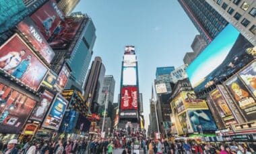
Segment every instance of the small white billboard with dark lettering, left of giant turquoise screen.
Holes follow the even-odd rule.
[[[174,71],[170,72],[170,78],[172,79],[173,83],[176,83],[178,80],[183,80],[187,78],[187,64],[180,66],[179,68],[176,68]]]

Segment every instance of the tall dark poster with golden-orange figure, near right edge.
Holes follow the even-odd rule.
[[[245,118],[248,121],[254,121],[256,117],[256,102],[245,84],[237,76],[234,76],[227,80],[226,86],[237,106],[243,111]]]

